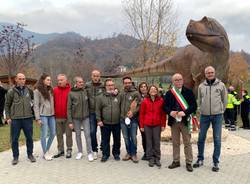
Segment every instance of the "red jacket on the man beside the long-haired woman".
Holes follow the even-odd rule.
[[[67,118],[67,101],[70,92],[70,85],[67,83],[65,87],[54,88],[54,104],[55,104],[55,117]]]

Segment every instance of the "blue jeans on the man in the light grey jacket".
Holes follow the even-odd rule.
[[[204,148],[207,130],[212,123],[213,128],[213,139],[214,139],[214,152],[213,162],[219,163],[219,157],[221,152],[221,125],[222,125],[222,114],[218,115],[201,115],[200,117],[200,133],[198,138],[198,159],[204,160]]]

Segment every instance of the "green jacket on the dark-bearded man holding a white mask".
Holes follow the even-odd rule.
[[[121,93],[121,118],[124,119],[127,117],[127,113],[130,110],[130,105],[134,100],[136,100],[137,106],[133,114],[136,115],[138,113],[140,107],[140,98],[140,93],[135,88],[123,90]]]

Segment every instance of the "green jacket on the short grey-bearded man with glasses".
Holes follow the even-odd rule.
[[[104,92],[96,99],[96,119],[104,124],[120,122],[121,96]]]

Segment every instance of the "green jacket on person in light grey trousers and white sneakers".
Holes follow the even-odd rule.
[[[73,119],[83,120],[89,117],[88,95],[85,89],[72,88],[68,95],[67,119],[72,123]]]

